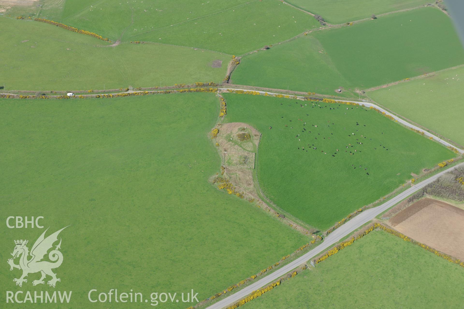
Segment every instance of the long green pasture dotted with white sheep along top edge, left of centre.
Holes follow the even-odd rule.
[[[62,13],[42,12],[41,18],[113,41],[148,41],[235,55],[321,26],[309,14],[278,0],[67,0]]]

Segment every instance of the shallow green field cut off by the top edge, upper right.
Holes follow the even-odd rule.
[[[427,0],[290,0],[290,4],[313,14],[326,22],[341,24],[430,3]]]

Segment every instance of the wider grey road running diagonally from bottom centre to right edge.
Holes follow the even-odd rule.
[[[336,242],[341,240],[343,237],[347,236],[348,234],[356,230],[358,227],[361,227],[364,223],[371,221],[378,214],[382,213],[383,211],[392,207],[396,203],[400,202],[401,200],[406,198],[408,195],[411,195],[412,193],[418,191],[419,189],[422,189],[427,184],[432,183],[438,177],[442,176],[446,172],[450,170],[454,170],[459,165],[464,165],[464,163],[458,164],[450,169],[443,170],[439,172],[438,174],[428,179],[425,179],[424,181],[420,183],[417,183],[416,185],[405,190],[404,192],[401,192],[399,195],[396,195],[394,198],[392,198],[388,202],[383,203],[380,206],[370,208],[370,209],[367,209],[361,212],[361,214],[358,214],[353,219],[343,224],[341,227],[337,228],[334,232],[330,233],[329,236],[327,236],[319,246],[316,246],[314,249],[312,249],[308,253],[290,262],[289,264],[283,266],[277,271],[274,271],[270,275],[263,277],[262,279],[259,279],[257,282],[250,284],[249,286],[245,287],[243,290],[239,290],[237,293],[232,294],[231,296],[227,296],[226,298],[220,300],[219,302],[214,303],[213,305],[207,307],[206,309],[222,309],[224,307],[230,306],[233,303],[236,303],[237,301],[242,299],[243,297],[251,294],[251,292],[253,292],[254,290],[258,290],[260,288],[265,287],[268,284],[271,284],[272,282],[276,281],[278,278],[282,277],[286,273],[292,271],[299,265],[306,263],[309,259],[312,259],[313,257],[315,257],[318,253],[323,252],[324,250],[328,249],[330,246],[333,246]]]

